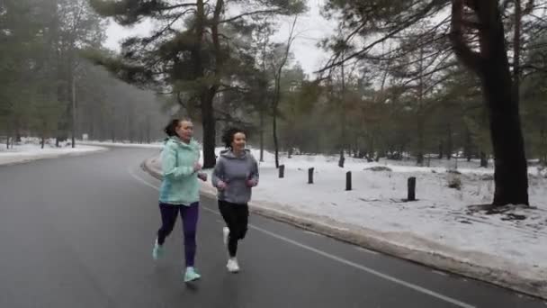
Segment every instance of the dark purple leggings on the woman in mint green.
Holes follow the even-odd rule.
[[[164,244],[166,237],[173,231],[176,217],[180,212],[183,219],[184,257],[186,260],[186,267],[193,267],[195,258],[195,231],[198,224],[199,208],[199,203],[197,202],[190,204],[190,206],[182,204],[159,204],[162,225],[157,231],[157,243],[160,245]]]

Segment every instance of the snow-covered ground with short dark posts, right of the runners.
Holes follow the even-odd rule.
[[[220,149],[218,149],[220,150]],[[253,150],[259,158],[258,150]],[[279,204],[282,209],[324,217],[348,226],[397,235],[412,234],[464,252],[507,259],[547,274],[547,169],[529,168],[530,203],[534,208],[510,206],[504,213],[486,214],[469,205],[489,204],[494,193],[493,168],[477,168],[478,161],[431,161],[431,168],[414,161],[367,163],[337,157],[282,157],[285,177],[278,178],[273,155],[260,163],[260,185],[253,201]],[[308,168],[315,168],[315,184],[308,185]],[[372,171],[384,167],[391,171]],[[352,171],[353,190],[345,191],[345,173]],[[406,203],[408,177],[417,177],[417,202]],[[461,182],[461,188],[449,183]],[[412,243],[408,243],[412,245]]]

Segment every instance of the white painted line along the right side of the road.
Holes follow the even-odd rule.
[[[131,175],[131,177],[135,178],[136,180],[138,180],[140,183],[143,183],[144,185],[146,186],[149,186],[149,187],[152,187],[154,189],[156,189],[157,191],[159,191],[159,188],[157,186],[153,186],[151,184],[149,184],[146,180],[142,179],[141,177],[135,175],[133,172],[131,172],[130,168],[128,168],[128,171]],[[211,210],[210,208],[206,207],[206,206],[202,206],[202,209],[207,211],[207,212],[210,212],[210,213],[214,213],[216,215],[220,215],[219,213],[217,213],[216,211],[213,211]],[[382,279],[385,279],[385,280],[388,280],[392,283],[395,283],[395,284],[398,284],[398,285],[403,285],[403,286],[406,286],[412,290],[415,290],[419,293],[422,293],[422,294],[427,294],[427,295],[430,295],[432,297],[435,297],[439,300],[442,300],[446,303],[453,303],[454,305],[458,306],[458,307],[462,307],[462,308],[475,308],[475,306],[469,304],[469,303],[463,303],[463,302],[460,302],[456,299],[453,299],[451,297],[448,297],[448,296],[445,296],[443,294],[439,294],[439,293],[436,293],[435,291],[431,291],[429,289],[426,289],[425,287],[422,287],[422,286],[419,286],[419,285],[414,285],[414,284],[411,284],[409,282],[406,282],[404,280],[400,280],[399,278],[396,278],[396,277],[393,277],[393,276],[389,276],[387,274],[383,274],[377,270],[374,270],[370,267],[364,267],[360,264],[357,264],[357,263],[354,263],[352,261],[349,261],[349,260],[346,260],[345,258],[340,258],[340,257],[336,257],[335,255],[331,255],[323,250],[319,250],[319,249],[315,249],[313,247],[309,247],[308,245],[305,245],[305,244],[302,244],[296,240],[291,240],[291,239],[288,239],[288,238],[285,238],[283,237],[282,235],[279,235],[279,234],[276,234],[276,233],[273,233],[271,231],[267,231],[265,229],[262,229],[260,227],[257,227],[253,224],[249,224],[249,227],[251,229],[254,229],[256,231],[261,231],[275,239],[278,239],[278,240],[282,240],[284,242],[287,242],[287,243],[290,243],[294,246],[297,246],[297,247],[300,247],[301,249],[306,249],[306,250],[309,250],[309,251],[312,251],[312,252],[315,252],[317,253],[319,256],[323,256],[325,258],[330,258],[331,260],[335,260],[339,263],[342,263],[342,264],[345,264],[346,266],[349,266],[349,267],[354,267],[354,268],[357,268],[357,269],[360,269],[362,270],[363,272],[366,272],[366,273],[369,273],[373,276],[378,276]]]

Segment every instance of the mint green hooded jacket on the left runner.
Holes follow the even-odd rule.
[[[166,140],[161,153],[163,181],[159,190],[162,204],[190,205],[200,201],[198,173],[193,166],[200,159],[200,144],[184,143],[177,137]]]

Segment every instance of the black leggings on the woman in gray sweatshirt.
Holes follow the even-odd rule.
[[[247,204],[232,204],[219,200],[219,210],[229,229],[229,256],[234,258],[238,253],[238,240],[243,240],[247,234],[249,207]]]

